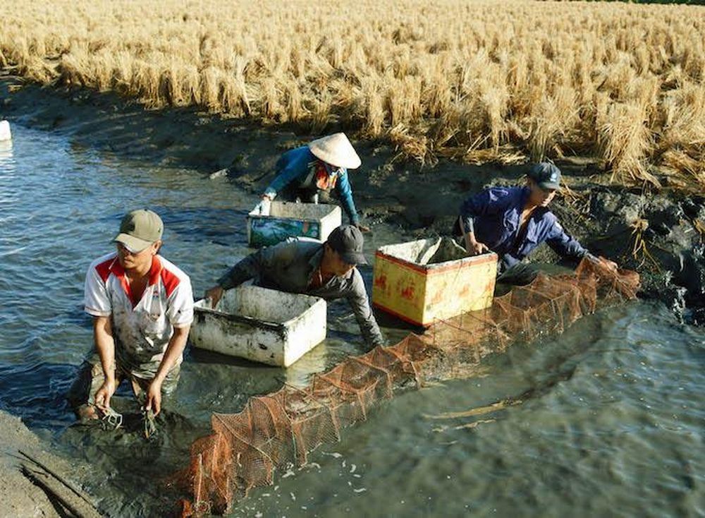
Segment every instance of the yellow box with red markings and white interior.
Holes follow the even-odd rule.
[[[427,327],[490,306],[496,275],[496,253],[467,257],[450,238],[382,246],[374,255],[372,303]]]

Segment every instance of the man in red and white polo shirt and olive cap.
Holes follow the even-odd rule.
[[[151,210],[129,212],[114,239],[117,251],[88,268],[85,311],[93,317],[96,354],[69,396],[80,417],[110,412],[123,379],[155,416],[162,394],[176,389],[193,295],[188,275],[158,255],[163,230]]]

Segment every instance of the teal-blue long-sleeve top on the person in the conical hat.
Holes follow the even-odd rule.
[[[309,150],[308,146],[296,147],[293,150],[285,152],[276,162],[276,178],[269,184],[264,191],[265,194],[276,195],[286,186],[291,183],[298,183],[302,188],[315,186],[315,178],[307,181],[312,175],[310,174],[312,163],[318,158]],[[360,222],[360,217],[357,215],[355,201],[353,201],[353,188],[350,187],[348,179],[348,170],[343,169],[338,174],[336,181],[336,193],[343,204],[343,210],[348,215],[350,223],[356,224]]]

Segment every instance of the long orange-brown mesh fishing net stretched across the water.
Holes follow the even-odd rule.
[[[510,344],[556,335],[582,315],[636,296],[639,275],[583,260],[575,275],[539,275],[483,310],[436,321],[312,377],[252,397],[239,414],[213,414],[212,435],[194,442],[187,469],[174,480],[192,495],[183,514],[222,514],[274,471],[305,464],[319,445],[341,439],[385,399],[431,381],[472,376],[482,359]]]

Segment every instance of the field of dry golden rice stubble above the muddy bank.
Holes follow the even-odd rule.
[[[151,107],[332,125],[403,156],[599,155],[702,183],[705,9],[510,0],[0,3],[0,66]]]

